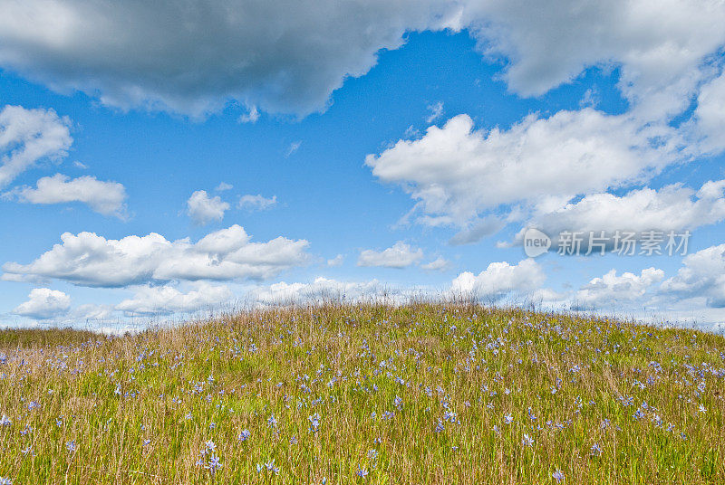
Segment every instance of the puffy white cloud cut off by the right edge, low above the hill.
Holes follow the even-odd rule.
[[[662,283],[662,294],[705,298],[709,307],[725,308],[725,244],[685,256],[677,275]]]

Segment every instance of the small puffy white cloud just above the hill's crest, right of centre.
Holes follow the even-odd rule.
[[[541,267],[532,259],[511,265],[508,262],[492,262],[478,273],[465,271],[451,283],[453,295],[473,295],[478,298],[499,300],[506,296],[528,294],[538,290],[546,280]]]

